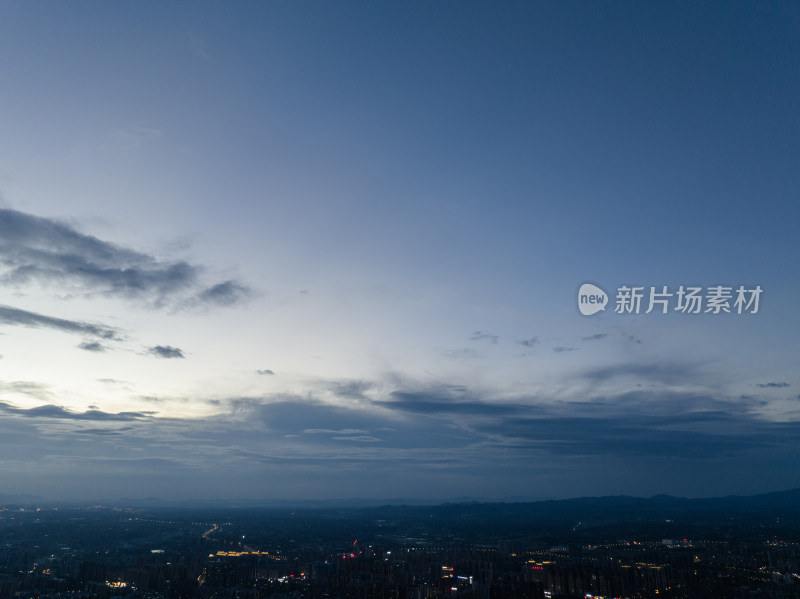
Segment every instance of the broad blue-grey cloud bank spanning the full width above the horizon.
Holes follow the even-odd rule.
[[[555,401],[413,381],[323,383],[322,396],[334,391],[337,398],[359,401],[333,405],[313,392],[242,397],[209,402],[219,408],[214,416],[195,419],[72,412],[54,405],[23,409],[0,402],[6,416],[0,418],[0,433],[14,448],[28,443],[15,455],[33,460],[32,468],[56,459],[135,475],[148,459],[163,459],[170,474],[160,483],[180,475],[186,484],[200,485],[209,472],[232,481],[307,481],[330,473],[327,483],[340,490],[356,485],[367,496],[374,493],[375,480],[381,489],[399,479],[411,485],[425,481],[450,494],[453,484],[505,484],[511,479],[498,476],[504,469],[514,480],[524,477],[535,485],[552,476],[580,475],[599,484],[593,492],[603,494],[613,493],[623,480],[629,489],[640,488],[639,479],[648,472],[657,473],[653,484],[659,490],[689,489],[709,476],[713,484],[726,483],[748,459],[785,474],[800,450],[800,423],[770,421],[752,410],[755,400],[711,392],[645,389]],[[91,448],[80,442],[89,437],[96,444]],[[99,445],[102,457],[90,453]],[[267,486],[258,490],[270,492]]]

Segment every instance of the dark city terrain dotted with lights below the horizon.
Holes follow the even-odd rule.
[[[141,503],[0,508],[0,599],[800,598],[800,490],[362,508]]]

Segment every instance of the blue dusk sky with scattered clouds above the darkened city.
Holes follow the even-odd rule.
[[[800,487],[798,223],[797,3],[0,3],[0,492]]]

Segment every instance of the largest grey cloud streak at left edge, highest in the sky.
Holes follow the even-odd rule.
[[[8,209],[0,209],[0,265],[6,267],[0,282],[6,284],[57,285],[87,297],[121,297],[154,307],[227,306],[249,293],[230,280],[197,291],[200,266],[159,261],[68,224]]]

